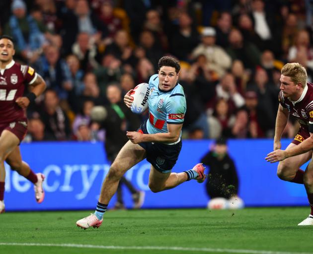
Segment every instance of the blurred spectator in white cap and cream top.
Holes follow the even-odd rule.
[[[225,71],[231,67],[232,59],[223,48],[215,44],[216,31],[213,27],[204,27],[201,35],[202,43],[193,50],[192,57],[197,58],[204,55],[209,69],[222,77]]]

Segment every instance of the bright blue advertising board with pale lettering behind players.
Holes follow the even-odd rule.
[[[283,140],[286,147],[290,140]],[[191,169],[209,150],[211,140],[184,140],[173,172]],[[229,140],[229,153],[235,161],[239,177],[239,196],[246,206],[308,205],[303,185],[281,181],[276,175],[277,163],[264,160],[272,151],[273,141]],[[34,172],[46,176],[46,197],[42,204],[34,198],[33,185],[5,165],[6,210],[94,209],[101,184],[110,163],[103,143],[38,142],[20,146],[23,160]],[[153,193],[148,187],[150,164],[144,160],[126,173],[134,186],[145,191],[143,208],[205,207],[209,200],[205,184],[186,182],[167,191]],[[131,194],[123,189],[125,204],[132,207]],[[115,196],[109,207],[114,205]]]

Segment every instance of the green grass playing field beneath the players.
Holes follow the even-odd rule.
[[[309,207],[107,211],[99,229],[82,230],[75,223],[88,211],[8,212],[0,215],[0,254],[313,253],[313,227],[297,226],[308,214]]]

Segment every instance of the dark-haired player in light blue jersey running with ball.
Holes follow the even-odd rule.
[[[158,62],[158,74],[149,81],[149,121],[138,131],[128,131],[129,141],[122,147],[102,184],[96,210],[77,221],[81,228],[100,227],[107,205],[117,190],[121,177],[143,159],[151,163],[149,188],[153,192],[172,189],[191,179],[203,183],[204,167],[197,164],[191,170],[171,173],[181,150],[181,128],[186,112],[186,100],[178,83],[180,65],[171,57],[162,57]],[[124,97],[130,108],[130,90]]]

